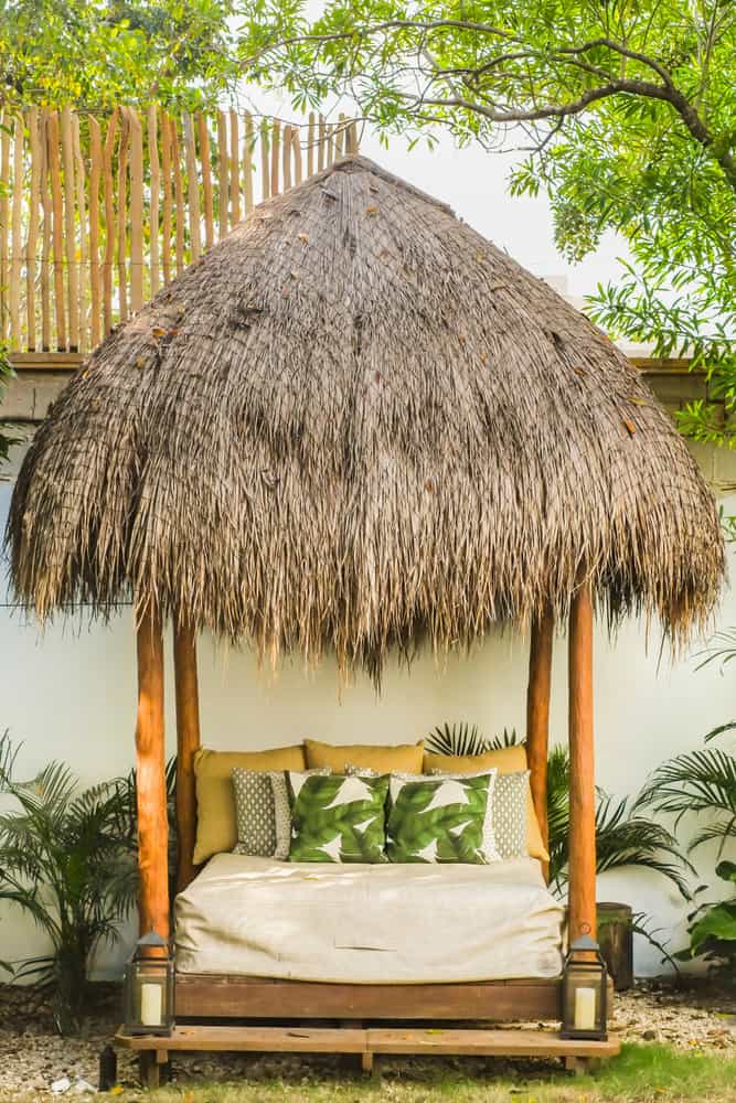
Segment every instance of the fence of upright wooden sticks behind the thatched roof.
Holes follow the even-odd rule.
[[[256,202],[358,152],[355,124],[116,107],[0,116],[0,347],[89,352]]]

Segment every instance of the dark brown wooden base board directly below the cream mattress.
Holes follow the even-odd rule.
[[[177,975],[177,1014],[206,1018],[557,1019],[559,981],[317,984]]]

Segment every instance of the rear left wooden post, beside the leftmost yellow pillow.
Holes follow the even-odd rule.
[[[196,796],[194,754],[200,748],[200,698],[196,681],[196,642],[190,624],[174,628],[174,681],[177,685],[177,827],[179,866],[177,891],[194,877]]]

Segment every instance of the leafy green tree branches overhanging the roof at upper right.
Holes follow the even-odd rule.
[[[619,336],[694,356],[736,406],[736,7],[723,0],[259,0],[246,69],[298,103],[348,95],[385,137],[525,149],[513,194],[546,192],[577,261],[629,250],[589,300]],[[712,403],[681,416],[736,443]]]

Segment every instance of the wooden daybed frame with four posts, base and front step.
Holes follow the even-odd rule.
[[[526,698],[526,752],[531,771],[531,790],[536,815],[545,844],[546,770],[550,726],[550,686],[554,622],[551,612],[532,625]],[[136,728],[138,773],[138,824],[140,863],[140,924],[141,931],[156,930],[164,938],[170,934],[170,900],[168,882],[167,799],[164,784],[163,738],[163,636],[161,620],[154,609],[149,610],[138,627],[138,722]],[[593,757],[593,604],[590,591],[580,582],[570,603],[568,631],[568,726],[570,753],[570,828],[569,828],[569,904],[568,932],[570,939],[596,930],[596,853],[595,853],[595,785]],[[194,785],[194,754],[200,747],[200,710],[196,675],[195,633],[188,623],[174,625],[174,677],[177,698],[177,825],[179,865],[177,888],[182,891],[193,879],[194,838],[196,831],[196,797]],[[545,870],[546,872],[546,870]],[[612,994],[612,993],[611,993]],[[177,976],[175,1045],[169,1048],[234,1049],[266,1048],[310,1049],[324,1051],[326,1034],[314,1028],[298,1035],[282,1028],[276,1035],[263,1034],[265,1027],[253,1024],[264,1020],[291,1020],[305,1022],[342,1024],[345,1029],[359,1029],[370,1021],[401,1020],[407,1024],[420,1020],[490,1022],[512,1020],[554,1020],[561,1014],[561,981],[519,979],[490,981],[458,984],[321,984],[298,981],[271,981],[243,976],[186,975]],[[212,1034],[214,1020],[237,1020],[241,1034],[217,1036]],[[199,1024],[199,1026],[198,1026]],[[258,1031],[260,1030],[260,1034]],[[329,1032],[329,1031],[328,1031]],[[334,1034],[334,1029],[332,1029]],[[369,1039],[371,1030],[361,1032],[355,1041],[361,1052],[370,1047],[388,1045]],[[476,1031],[478,1034],[478,1031]],[[512,1031],[505,1031],[511,1046]],[[523,1045],[531,1045],[532,1032],[524,1031]],[[451,1038],[450,1038],[451,1036]],[[457,1036],[457,1037],[456,1037]],[[462,1031],[448,1031],[444,1051],[455,1046],[454,1052],[469,1052],[462,1048]],[[541,1034],[544,1046],[550,1038]],[[409,1046],[409,1035],[403,1045]],[[239,1042],[238,1042],[239,1039]],[[260,1039],[260,1042],[258,1041]],[[279,1045],[275,1042],[280,1039]],[[455,1039],[455,1040],[452,1040]],[[343,1038],[344,1040],[344,1038]],[[482,1040],[482,1039],[481,1039]],[[554,1037],[555,1054],[563,1050],[573,1054],[570,1060],[586,1059],[599,1052],[609,1056],[618,1051],[618,1042],[587,1043],[585,1054],[579,1043],[564,1043]],[[236,1045],[236,1042],[238,1042]],[[490,1052],[477,1039],[478,1052]],[[140,1039],[118,1036],[118,1043],[137,1049],[143,1054],[145,1068],[159,1063],[167,1052],[166,1039]],[[427,1037],[416,1036],[417,1050],[427,1051]],[[345,1041],[346,1045],[346,1041]],[[352,1042],[351,1042],[352,1045]],[[394,1042],[392,1042],[394,1045]],[[399,1045],[395,1041],[395,1045]],[[501,1052],[498,1039],[493,1052]],[[577,1048],[576,1048],[577,1046]],[[599,1046],[599,1050],[596,1050]],[[459,1047],[459,1048],[457,1048]],[[561,1048],[562,1047],[562,1048]],[[612,1048],[611,1048],[612,1047]],[[334,1043],[333,1051],[344,1051]],[[436,1047],[435,1047],[436,1049]],[[513,1049],[513,1046],[512,1046]],[[518,1047],[516,1047],[518,1049]],[[514,1049],[514,1052],[516,1052]],[[548,1046],[547,1046],[548,1049]],[[353,1050],[351,1050],[353,1051]],[[358,1051],[358,1050],[355,1050]],[[371,1050],[373,1052],[374,1050]],[[376,1052],[380,1050],[375,1050]],[[392,1050],[392,1051],[412,1051]],[[521,1050],[520,1050],[521,1051]],[[545,1050],[546,1052],[547,1050]],[[595,1051],[595,1052],[594,1052]],[[577,1056],[575,1056],[577,1054]],[[365,1064],[365,1061],[364,1061]]]

